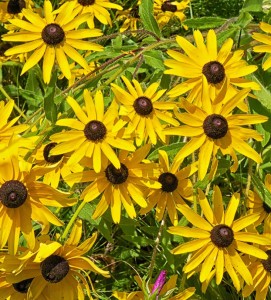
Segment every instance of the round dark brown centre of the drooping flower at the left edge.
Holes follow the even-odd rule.
[[[9,180],[0,188],[0,200],[8,208],[17,208],[24,204],[27,198],[27,189],[18,180]]]

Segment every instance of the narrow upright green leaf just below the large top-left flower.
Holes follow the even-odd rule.
[[[55,86],[56,86],[57,75],[54,73],[50,80],[50,83],[46,89],[44,97],[44,111],[47,120],[55,123],[57,120],[57,108],[54,102],[55,97]]]

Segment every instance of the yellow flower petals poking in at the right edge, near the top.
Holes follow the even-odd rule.
[[[254,40],[263,43],[263,45],[254,46],[253,51],[259,53],[271,53],[271,36],[268,35],[271,33],[271,25],[265,22],[260,22],[259,26],[261,30],[263,30],[267,34],[258,33],[258,32],[254,32],[252,34]],[[271,67],[271,56],[269,56],[263,63],[264,70],[267,70],[270,67]]]

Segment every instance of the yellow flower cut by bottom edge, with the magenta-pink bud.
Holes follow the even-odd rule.
[[[173,296],[174,291],[177,289],[177,278],[178,275],[173,275],[166,281],[166,272],[162,270],[154,284],[146,284],[139,276],[135,276],[141,291],[130,293],[114,291],[113,296],[118,300],[156,300],[164,299],[164,297],[168,300],[186,300],[192,297],[196,290],[194,287],[190,287]]]

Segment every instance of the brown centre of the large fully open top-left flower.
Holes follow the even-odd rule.
[[[65,32],[58,24],[51,23],[43,28],[41,37],[47,45],[56,46],[64,40]]]

